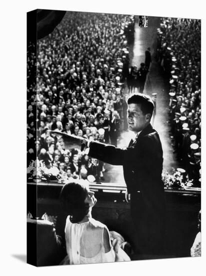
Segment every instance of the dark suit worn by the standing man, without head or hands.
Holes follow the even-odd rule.
[[[91,142],[89,156],[111,165],[122,165],[131,217],[136,229],[136,251],[158,254],[164,235],[164,185],[161,180],[162,147],[151,124],[125,149]]]

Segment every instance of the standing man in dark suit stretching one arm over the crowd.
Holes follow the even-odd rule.
[[[88,146],[88,155],[112,165],[122,165],[136,231],[136,259],[150,258],[163,251],[164,185],[161,180],[162,148],[150,119],[154,104],[149,96],[137,93],[127,100],[129,130],[135,133],[128,147],[119,149],[97,142],[62,136],[62,146]]]

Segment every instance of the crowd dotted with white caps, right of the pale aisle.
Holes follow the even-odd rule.
[[[201,23],[161,18],[157,59],[169,82],[171,139],[177,159],[200,185],[201,149]]]

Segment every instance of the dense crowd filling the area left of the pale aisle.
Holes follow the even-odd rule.
[[[75,149],[64,151],[49,130],[117,145],[119,131],[127,129],[123,88],[133,34],[133,16],[67,12],[56,29],[38,41],[36,87],[30,81],[27,90],[27,139],[28,145],[36,144],[36,154],[28,146],[28,160],[36,155],[68,178],[87,174],[95,181],[103,179],[103,163]],[[28,72],[33,73],[32,58]]]

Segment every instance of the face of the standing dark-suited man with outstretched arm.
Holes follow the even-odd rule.
[[[128,129],[137,133],[144,129],[150,121],[149,114],[143,114],[140,104],[130,103],[127,108]]]

